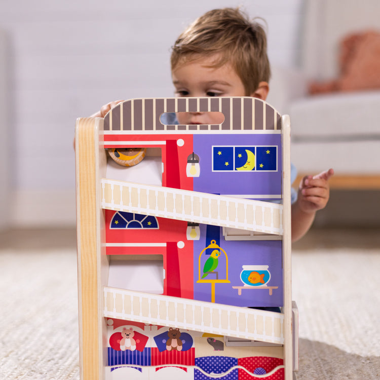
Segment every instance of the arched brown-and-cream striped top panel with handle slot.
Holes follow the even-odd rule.
[[[220,125],[163,125],[165,112],[222,112]],[[104,117],[104,131],[280,130],[281,116],[252,97],[153,98],[119,103]]]

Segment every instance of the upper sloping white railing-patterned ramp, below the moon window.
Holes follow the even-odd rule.
[[[282,235],[283,206],[102,178],[102,208]]]

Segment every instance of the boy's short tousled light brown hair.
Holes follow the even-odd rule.
[[[171,69],[184,62],[218,55],[211,67],[230,63],[239,75],[246,95],[260,82],[269,82],[267,36],[262,26],[239,8],[214,9],[196,19],[178,37],[171,54]]]

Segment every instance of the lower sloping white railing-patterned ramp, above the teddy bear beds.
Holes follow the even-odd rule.
[[[284,315],[217,303],[103,287],[104,317],[284,343]]]

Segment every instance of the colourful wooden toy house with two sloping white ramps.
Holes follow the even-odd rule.
[[[186,111],[224,121],[163,122]],[[133,99],[75,136],[81,378],[295,378],[289,118],[251,97]],[[125,148],[145,157],[107,153]]]

